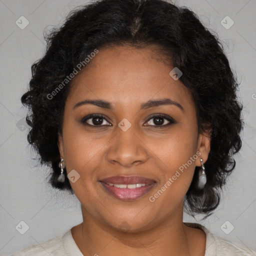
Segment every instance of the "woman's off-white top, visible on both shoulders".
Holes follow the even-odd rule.
[[[206,234],[206,249],[204,256],[245,256],[256,255],[256,252],[245,245],[228,241],[211,233],[206,227],[198,223],[184,222],[187,226],[202,229]],[[71,229],[63,235],[51,238],[40,244],[34,244],[16,251],[11,256],[83,256],[77,247]]]

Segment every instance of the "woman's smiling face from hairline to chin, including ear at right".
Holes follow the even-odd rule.
[[[182,217],[210,140],[172,69],[152,48],[118,46],[99,49],[74,77],[59,150],[85,215],[130,231]]]

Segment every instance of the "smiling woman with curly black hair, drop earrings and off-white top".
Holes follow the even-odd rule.
[[[99,0],[47,39],[29,143],[83,222],[13,255],[255,255],[196,223],[235,166],[242,106],[217,37],[164,0]]]

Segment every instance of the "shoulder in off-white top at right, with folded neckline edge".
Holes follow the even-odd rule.
[[[256,252],[249,247],[228,241],[216,234],[211,233],[205,226],[199,223],[188,223],[184,224],[202,229],[206,234],[205,244],[205,256],[256,256]]]

